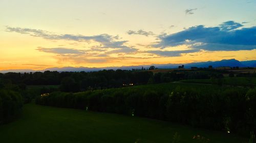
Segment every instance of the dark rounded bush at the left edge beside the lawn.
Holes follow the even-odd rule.
[[[0,124],[10,122],[22,110],[22,97],[17,92],[0,90]]]

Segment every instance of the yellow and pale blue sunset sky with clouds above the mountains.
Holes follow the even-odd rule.
[[[256,60],[256,0],[1,0],[0,70]]]

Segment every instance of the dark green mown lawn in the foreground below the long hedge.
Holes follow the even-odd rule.
[[[200,134],[210,142],[242,143],[236,135],[195,129],[152,119],[26,104],[23,116],[0,126],[0,142],[197,142]]]

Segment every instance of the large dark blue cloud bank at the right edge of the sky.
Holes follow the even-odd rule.
[[[153,47],[173,47],[187,45],[191,49],[207,51],[251,50],[256,48],[256,26],[242,27],[234,21],[227,21],[218,26],[198,25],[184,31],[160,35],[160,41]]]

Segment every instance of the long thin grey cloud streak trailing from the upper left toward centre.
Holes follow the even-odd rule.
[[[40,37],[47,40],[72,40],[72,41],[90,41],[99,42],[101,48],[129,48],[124,45],[128,41],[117,41],[118,36],[111,36],[108,34],[101,34],[95,36],[83,36],[83,35],[72,35],[72,34],[54,34],[48,31],[36,30],[31,28],[20,28],[20,27],[6,27],[6,32],[16,32],[20,34],[28,34],[34,37]]]

